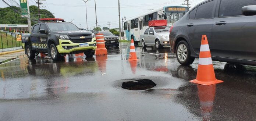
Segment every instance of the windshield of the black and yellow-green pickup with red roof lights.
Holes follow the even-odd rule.
[[[71,23],[47,23],[50,31],[69,31],[69,30],[80,30],[77,26]]]

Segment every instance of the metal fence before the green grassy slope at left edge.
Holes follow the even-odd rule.
[[[21,47],[21,41],[16,40],[16,33],[0,32],[0,49],[6,49],[11,47]]]

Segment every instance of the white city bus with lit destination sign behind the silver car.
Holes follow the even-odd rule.
[[[138,45],[139,36],[149,28],[151,20],[167,20],[167,26],[171,27],[189,11],[188,7],[164,6],[159,9],[138,15],[124,21],[124,39],[134,39],[134,44]]]

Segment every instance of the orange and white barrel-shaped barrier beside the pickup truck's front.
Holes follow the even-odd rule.
[[[96,56],[107,55],[107,49],[105,47],[104,35],[96,34],[97,49],[95,51]]]

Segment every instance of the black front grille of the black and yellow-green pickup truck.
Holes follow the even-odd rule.
[[[86,43],[92,41],[92,34],[68,35],[73,43]]]

